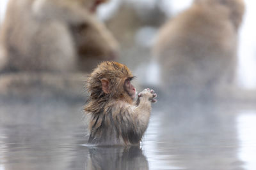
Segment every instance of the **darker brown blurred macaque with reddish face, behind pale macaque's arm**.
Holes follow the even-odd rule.
[[[94,21],[70,25],[72,38],[76,44],[78,67],[83,71],[89,71],[92,70],[99,61],[116,60],[120,52],[119,43],[106,25],[95,17],[95,11],[100,4],[106,3],[109,0],[77,1],[82,1],[85,10],[91,13],[91,15],[88,15],[88,18]]]

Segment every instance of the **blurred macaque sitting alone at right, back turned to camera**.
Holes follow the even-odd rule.
[[[167,22],[154,46],[163,89],[186,96],[232,85],[243,13],[243,0],[195,0]]]

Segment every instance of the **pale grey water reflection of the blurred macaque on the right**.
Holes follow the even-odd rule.
[[[156,116],[160,125],[153,143],[164,162],[161,169],[242,168],[237,157],[236,110],[191,104],[170,106]]]

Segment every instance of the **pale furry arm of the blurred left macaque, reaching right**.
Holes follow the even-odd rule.
[[[32,9],[38,18],[63,20],[70,24],[95,22],[92,14],[79,1],[36,0]]]

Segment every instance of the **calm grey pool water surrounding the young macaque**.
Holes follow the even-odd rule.
[[[83,103],[1,102],[0,169],[256,169],[255,121],[253,106],[157,103],[141,146],[99,147]]]

